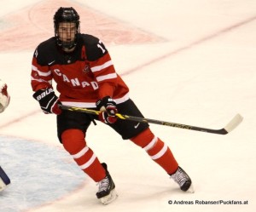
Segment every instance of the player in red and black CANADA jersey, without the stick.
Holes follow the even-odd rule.
[[[115,72],[105,45],[97,37],[80,33],[79,14],[60,8],[54,15],[55,36],[40,43],[32,57],[32,90],[44,113],[55,113],[58,138],[90,178],[98,182],[96,197],[111,203],[117,194],[107,164],[85,141],[91,122],[100,120],[124,140],[142,147],[155,163],[171,176],[184,192],[192,191],[189,175],[178,166],[170,148],[149,129],[148,123],[117,119],[116,112],[143,117],[129,97],[129,89]],[[60,96],[52,87],[55,80]],[[99,116],[61,111],[59,105],[100,110]]]

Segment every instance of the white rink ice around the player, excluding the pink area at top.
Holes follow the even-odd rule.
[[[9,14],[42,2],[51,3],[1,0],[0,30]],[[32,98],[34,49],[3,50],[0,77],[9,84],[11,102],[0,117],[0,165],[12,184],[0,193],[0,211],[255,211],[256,2],[59,2],[60,7],[77,3],[79,9],[92,9],[159,38],[151,43],[107,43],[117,72],[145,117],[212,129],[224,127],[236,113],[244,120],[229,135],[151,124],[192,178],[194,194],[181,192],[142,149],[101,123],[91,125],[88,145],[108,163],[119,193],[115,202],[102,206],[96,199],[96,183],[77,168],[57,140],[55,115],[44,115]],[[83,23],[81,30],[87,33]],[[218,200],[226,204],[197,202]]]

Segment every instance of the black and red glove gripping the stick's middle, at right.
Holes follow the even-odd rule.
[[[96,101],[97,110],[100,111],[99,119],[102,123],[115,123],[117,117],[115,114],[118,112],[116,103],[110,96],[105,96],[102,100]]]

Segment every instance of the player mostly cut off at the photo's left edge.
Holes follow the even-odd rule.
[[[7,92],[7,84],[0,79],[0,112],[3,112],[9,106],[9,94]],[[0,166],[0,192],[10,184],[8,175]]]

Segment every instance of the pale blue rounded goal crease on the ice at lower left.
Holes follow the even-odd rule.
[[[0,193],[1,211],[39,207],[76,192],[86,176],[66,152],[33,140],[0,136],[1,164],[11,184]]]

